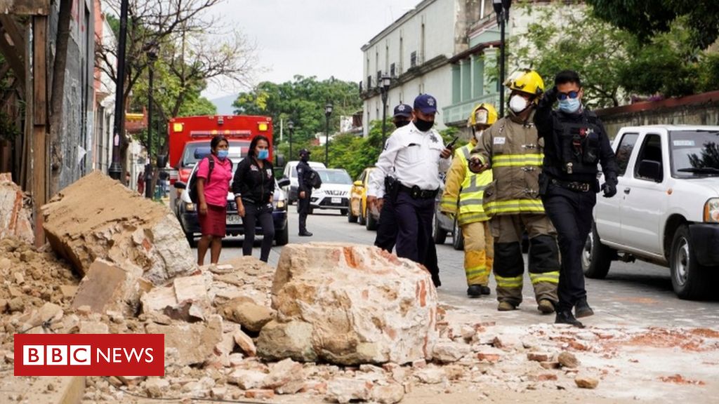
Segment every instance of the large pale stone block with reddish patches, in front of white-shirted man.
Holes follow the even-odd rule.
[[[431,359],[438,336],[429,272],[375,247],[285,246],[275,272],[273,308],[278,323],[308,323],[312,352],[335,364]],[[273,357],[283,347],[263,338],[265,329],[278,334],[270,324],[260,331],[257,348]]]

